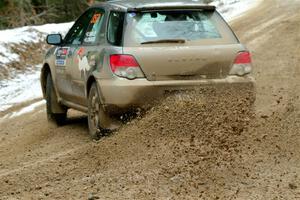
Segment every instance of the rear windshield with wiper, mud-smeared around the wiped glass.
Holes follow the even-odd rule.
[[[224,27],[236,42],[232,31],[214,11],[131,12],[127,13],[126,21],[125,43],[130,45],[168,40],[222,40]]]

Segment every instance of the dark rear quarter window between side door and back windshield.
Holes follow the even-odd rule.
[[[107,28],[107,40],[109,43],[120,46],[123,38],[124,12],[111,12]]]

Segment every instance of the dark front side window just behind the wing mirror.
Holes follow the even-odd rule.
[[[64,39],[65,44],[81,44],[93,14],[94,10],[89,10],[76,21]]]

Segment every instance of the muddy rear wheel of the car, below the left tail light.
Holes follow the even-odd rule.
[[[88,96],[88,125],[89,133],[92,139],[99,140],[101,137],[101,119],[104,117],[104,111],[100,101],[97,84],[93,83]]]

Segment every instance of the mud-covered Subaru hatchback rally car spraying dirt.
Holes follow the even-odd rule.
[[[98,138],[112,116],[167,92],[211,84],[253,84],[250,53],[204,1],[117,0],[83,13],[45,56],[41,85],[50,121],[69,108],[88,113]]]

